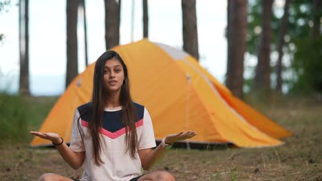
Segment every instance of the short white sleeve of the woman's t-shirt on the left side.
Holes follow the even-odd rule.
[[[74,152],[84,152],[85,151],[84,142],[83,142],[83,139],[82,139],[81,133],[80,133],[81,119],[78,120],[79,117],[81,117],[81,115],[79,114],[78,110],[76,110],[76,112],[74,114],[74,121],[73,121],[73,126],[72,126],[72,136],[70,138],[70,145],[69,145],[69,148],[72,149],[72,151],[74,151]],[[78,130],[78,127],[79,127],[79,130]]]

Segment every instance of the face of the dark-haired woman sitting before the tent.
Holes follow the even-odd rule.
[[[105,62],[104,82],[109,93],[120,91],[124,78],[124,70],[120,61],[111,59]]]

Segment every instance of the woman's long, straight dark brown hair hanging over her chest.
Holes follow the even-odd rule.
[[[96,165],[104,163],[100,159],[102,143],[100,139],[99,129],[102,126],[103,122],[105,101],[109,97],[104,82],[104,67],[105,62],[111,59],[120,61],[124,70],[125,80],[120,90],[120,105],[122,106],[122,124],[125,125],[127,152],[129,152],[131,157],[133,158],[136,157],[136,145],[138,143],[138,136],[136,134],[137,114],[136,107],[133,105],[133,101],[131,99],[127,66],[125,65],[125,62],[122,60],[120,55],[116,53],[116,51],[105,51],[105,53],[103,53],[98,58],[95,64],[92,104],[89,110],[89,132],[92,136],[93,154]]]

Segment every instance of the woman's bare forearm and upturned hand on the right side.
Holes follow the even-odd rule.
[[[197,133],[193,131],[170,134],[164,138],[164,143],[172,145],[177,141],[184,141],[186,139],[192,138],[196,134]],[[158,145],[158,147],[156,147],[155,149],[149,148],[138,150],[143,169],[149,170],[156,162],[161,160],[166,152],[167,149],[165,149],[162,144]]]

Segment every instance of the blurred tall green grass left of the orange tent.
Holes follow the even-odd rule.
[[[0,143],[25,143],[38,130],[56,97],[25,97],[0,93]]]

